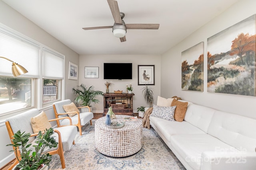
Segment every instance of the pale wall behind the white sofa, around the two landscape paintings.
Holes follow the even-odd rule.
[[[256,97],[207,92],[207,38],[256,14],[255,0],[240,0],[162,55],[161,95],[256,118]],[[181,52],[204,41],[204,92],[181,90]],[[168,78],[164,78],[168,77]]]

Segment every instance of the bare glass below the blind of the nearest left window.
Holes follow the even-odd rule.
[[[0,76],[0,114],[32,106],[31,78]]]

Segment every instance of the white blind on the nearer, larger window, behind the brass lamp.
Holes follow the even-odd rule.
[[[40,46],[0,26],[0,56],[22,65],[28,72],[22,77],[39,77]],[[13,76],[12,62],[0,59],[0,75]]]

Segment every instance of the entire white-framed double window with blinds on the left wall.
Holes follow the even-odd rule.
[[[0,23],[0,56],[28,70],[13,77],[12,63],[0,58],[0,117],[62,99],[64,55]]]

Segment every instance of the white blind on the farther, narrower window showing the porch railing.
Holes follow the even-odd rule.
[[[64,56],[43,48],[43,78],[64,79]]]

